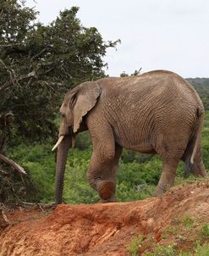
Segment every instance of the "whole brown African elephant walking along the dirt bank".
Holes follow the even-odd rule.
[[[62,203],[70,139],[85,130],[89,130],[93,145],[87,179],[104,203],[115,200],[123,147],[160,155],[162,175],[155,196],[173,186],[181,159],[186,170],[206,175],[200,140],[203,104],[190,83],[173,72],[154,70],[84,82],[67,92],[60,113],[62,122],[54,147],[58,147],[56,203]]]

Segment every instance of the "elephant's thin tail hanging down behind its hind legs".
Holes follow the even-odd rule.
[[[194,135],[188,145],[189,152],[185,162],[184,162],[184,176],[190,175],[190,172],[192,172],[192,165],[195,163],[195,156],[197,154],[197,151],[200,149],[200,142],[201,142],[201,130],[203,126],[203,120],[204,120],[204,110],[199,108],[196,109],[196,124],[195,124],[195,131]]]

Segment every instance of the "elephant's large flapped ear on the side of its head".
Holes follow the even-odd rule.
[[[78,131],[83,116],[95,106],[101,92],[101,87],[96,82],[85,82],[80,85],[74,103],[74,132]]]

